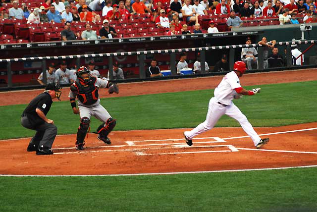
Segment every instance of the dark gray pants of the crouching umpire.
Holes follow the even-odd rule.
[[[44,148],[52,148],[57,134],[57,127],[54,124],[45,122],[43,124],[34,126],[30,123],[27,116],[21,118],[21,124],[25,128],[37,131],[31,139],[30,144],[34,144],[36,147],[43,145]]]

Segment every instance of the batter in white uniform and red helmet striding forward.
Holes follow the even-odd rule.
[[[193,145],[192,139],[196,135],[213,128],[223,114],[229,115],[239,121],[243,130],[251,137],[257,148],[262,147],[269,141],[268,138],[261,139],[259,137],[247,117],[232,103],[234,98],[239,99],[241,95],[255,95],[261,90],[261,88],[255,88],[252,91],[247,91],[242,88],[239,78],[242,77],[245,71],[246,64],[242,61],[237,61],[234,63],[233,71],[227,73],[222,78],[220,84],[214,89],[214,97],[209,101],[206,120],[195,129],[184,132],[186,143],[189,146]]]

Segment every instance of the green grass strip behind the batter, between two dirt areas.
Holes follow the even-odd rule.
[[[262,88],[260,94],[243,97],[234,103],[254,126],[313,122],[317,121],[316,86],[317,81],[263,85],[259,86]],[[212,96],[213,90],[200,90],[103,99],[102,105],[117,119],[115,130],[183,128],[195,127],[205,120]],[[20,125],[25,106],[0,106],[0,116],[5,117],[0,120],[0,139],[34,134]],[[72,113],[69,102],[54,102],[48,117],[54,120],[58,134],[76,133],[79,115]],[[92,118],[92,130],[99,124],[99,120]],[[239,126],[239,123],[222,116],[217,126]]]

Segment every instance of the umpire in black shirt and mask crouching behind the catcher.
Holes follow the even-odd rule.
[[[27,148],[28,152],[36,151],[36,155],[53,154],[51,148],[57,134],[57,127],[53,120],[46,117],[46,114],[50,111],[53,99],[59,100],[60,95],[59,85],[50,83],[46,86],[44,93],[34,98],[24,109],[21,116],[22,126],[36,130]]]

